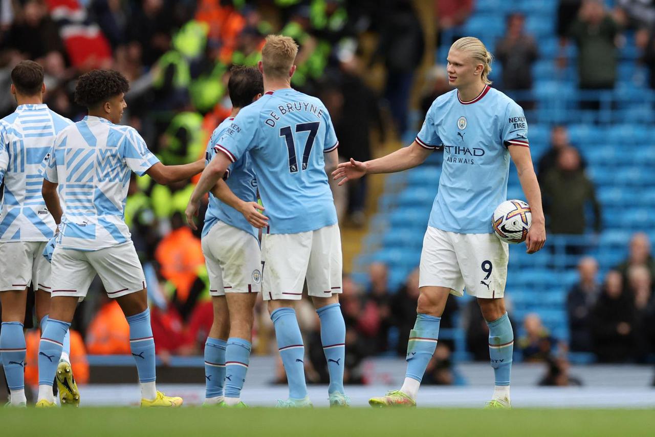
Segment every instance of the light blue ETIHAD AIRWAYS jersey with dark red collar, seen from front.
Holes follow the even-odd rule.
[[[443,148],[429,226],[458,234],[493,232],[493,211],[507,198],[510,146],[529,147],[521,106],[487,85],[470,102],[457,90],[436,98],[416,141]]]

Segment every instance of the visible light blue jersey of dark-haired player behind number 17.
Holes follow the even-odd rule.
[[[214,158],[217,152],[215,146],[219,138],[223,136],[223,133],[225,133],[227,129],[231,129],[233,120],[234,117],[226,118],[216,129],[214,129],[207,144],[205,165],[210,163]],[[227,183],[227,186],[232,190],[234,196],[246,202],[257,201],[257,180],[255,179],[255,171],[252,169],[251,159],[247,152],[235,163],[230,165],[227,169],[226,176],[225,183]],[[202,227],[202,236],[206,236],[212,226],[219,221],[225,222],[240,230],[244,230],[257,238],[257,228],[252,226],[242,213],[221,202],[210,192],[209,206],[207,207],[204,226]]]

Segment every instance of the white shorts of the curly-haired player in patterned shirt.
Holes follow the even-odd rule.
[[[116,298],[145,289],[145,275],[134,243],[128,241],[98,251],[55,247],[52,253],[52,296],[82,299],[100,276],[107,296]]]

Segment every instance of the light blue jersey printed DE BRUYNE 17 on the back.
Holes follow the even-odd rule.
[[[297,234],[337,223],[323,154],[339,146],[316,97],[294,89],[267,91],[243,108],[216,150],[231,161],[250,153],[270,234]]]

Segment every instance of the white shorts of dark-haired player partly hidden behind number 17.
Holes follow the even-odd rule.
[[[261,291],[261,251],[252,234],[217,222],[202,238],[202,253],[210,295]]]

